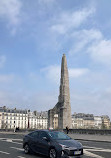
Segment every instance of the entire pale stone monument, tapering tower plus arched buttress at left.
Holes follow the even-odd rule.
[[[61,63],[60,94],[58,103],[48,111],[48,128],[54,129],[54,116],[58,115],[58,129],[71,128],[71,105],[69,91],[69,75],[66,56],[63,54]]]

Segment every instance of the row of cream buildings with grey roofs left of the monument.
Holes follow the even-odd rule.
[[[0,129],[47,129],[47,112],[0,108]]]

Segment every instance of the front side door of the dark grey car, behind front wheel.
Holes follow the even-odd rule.
[[[46,138],[46,139],[44,139]],[[39,149],[40,153],[44,155],[48,155],[48,151],[50,148],[50,138],[45,131],[39,132]]]

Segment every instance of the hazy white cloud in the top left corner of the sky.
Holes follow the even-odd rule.
[[[21,6],[20,0],[0,0],[0,17],[8,20],[12,33],[15,33],[15,27],[20,23]]]

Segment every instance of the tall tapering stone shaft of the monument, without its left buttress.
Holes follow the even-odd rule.
[[[58,98],[60,112],[58,114],[58,126],[71,128],[71,105],[69,91],[69,75],[67,68],[66,56],[63,54],[61,63],[60,95]]]

